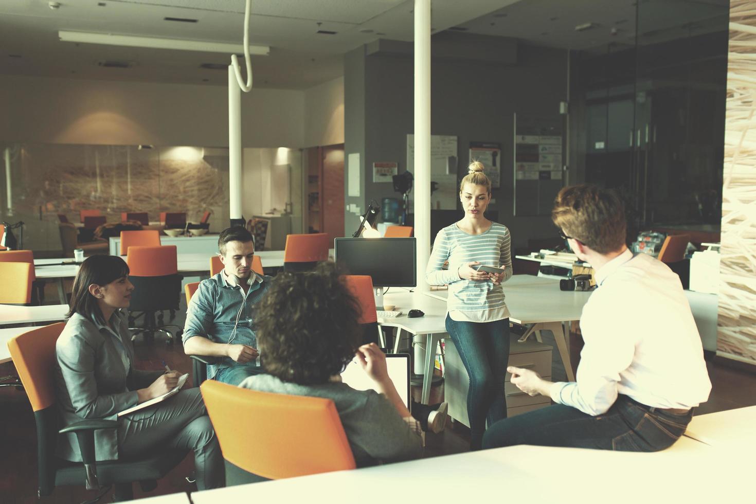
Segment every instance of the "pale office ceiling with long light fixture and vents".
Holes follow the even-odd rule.
[[[643,41],[705,29],[727,0],[640,0]],[[98,4],[104,4],[99,6]],[[634,0],[432,0],[432,26],[440,32],[507,36],[559,48],[634,44]],[[413,0],[253,0],[250,43],[271,46],[253,57],[255,85],[305,89],[342,76],[347,51],[375,39],[413,39]],[[60,42],[57,30],[209,40],[241,44],[244,0],[0,0],[0,75],[180,82],[225,85],[228,54]],[[178,23],[164,17],[196,19]],[[694,23],[691,24],[691,22]],[[575,25],[594,23],[576,32]],[[614,32],[612,32],[614,28]],[[336,35],[318,34],[318,29]],[[20,57],[14,57],[20,56]],[[104,60],[128,69],[104,68]]]

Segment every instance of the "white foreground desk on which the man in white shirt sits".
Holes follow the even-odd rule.
[[[194,504],[230,504],[249,502],[251,496],[263,502],[321,502],[341,496],[385,504],[392,499],[423,502],[438,493],[448,502],[485,502],[495,495],[513,502],[595,502],[611,496],[612,502],[635,504],[639,499],[719,502],[730,492],[748,495],[751,480],[728,478],[727,466],[711,447],[686,438],[658,453],[518,446],[204,490],[191,499]],[[741,470],[751,469],[742,464]],[[725,487],[707,483],[720,476]]]

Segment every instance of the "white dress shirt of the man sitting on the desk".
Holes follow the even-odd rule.
[[[553,384],[554,402],[595,416],[617,394],[659,408],[708,400],[701,338],[677,274],[626,250],[596,271],[596,283],[581,315],[577,382]]]

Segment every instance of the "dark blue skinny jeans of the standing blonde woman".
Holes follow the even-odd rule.
[[[504,379],[510,358],[510,320],[458,322],[447,314],[446,332],[470,379],[467,390],[470,448],[480,450],[486,420],[488,425],[494,425],[507,418]]]

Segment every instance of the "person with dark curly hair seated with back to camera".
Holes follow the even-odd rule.
[[[399,397],[374,343],[359,346],[357,301],[333,263],[312,273],[276,277],[258,312],[258,345],[264,375],[240,387],[333,400],[355,462],[398,461],[422,453],[420,425]],[[339,374],[355,353],[376,391],[357,391]]]

